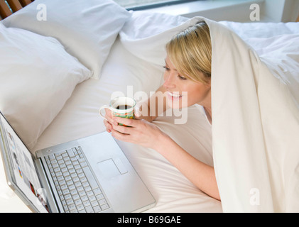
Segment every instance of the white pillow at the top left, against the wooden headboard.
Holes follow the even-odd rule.
[[[36,0],[3,23],[57,38],[99,79],[114,40],[130,17],[111,0]]]

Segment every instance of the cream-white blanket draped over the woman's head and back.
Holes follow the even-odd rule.
[[[223,211],[299,211],[298,34],[247,40],[259,57],[229,28],[197,17],[143,36],[124,27],[121,42],[163,64],[163,44],[202,20],[212,37],[212,149]]]

